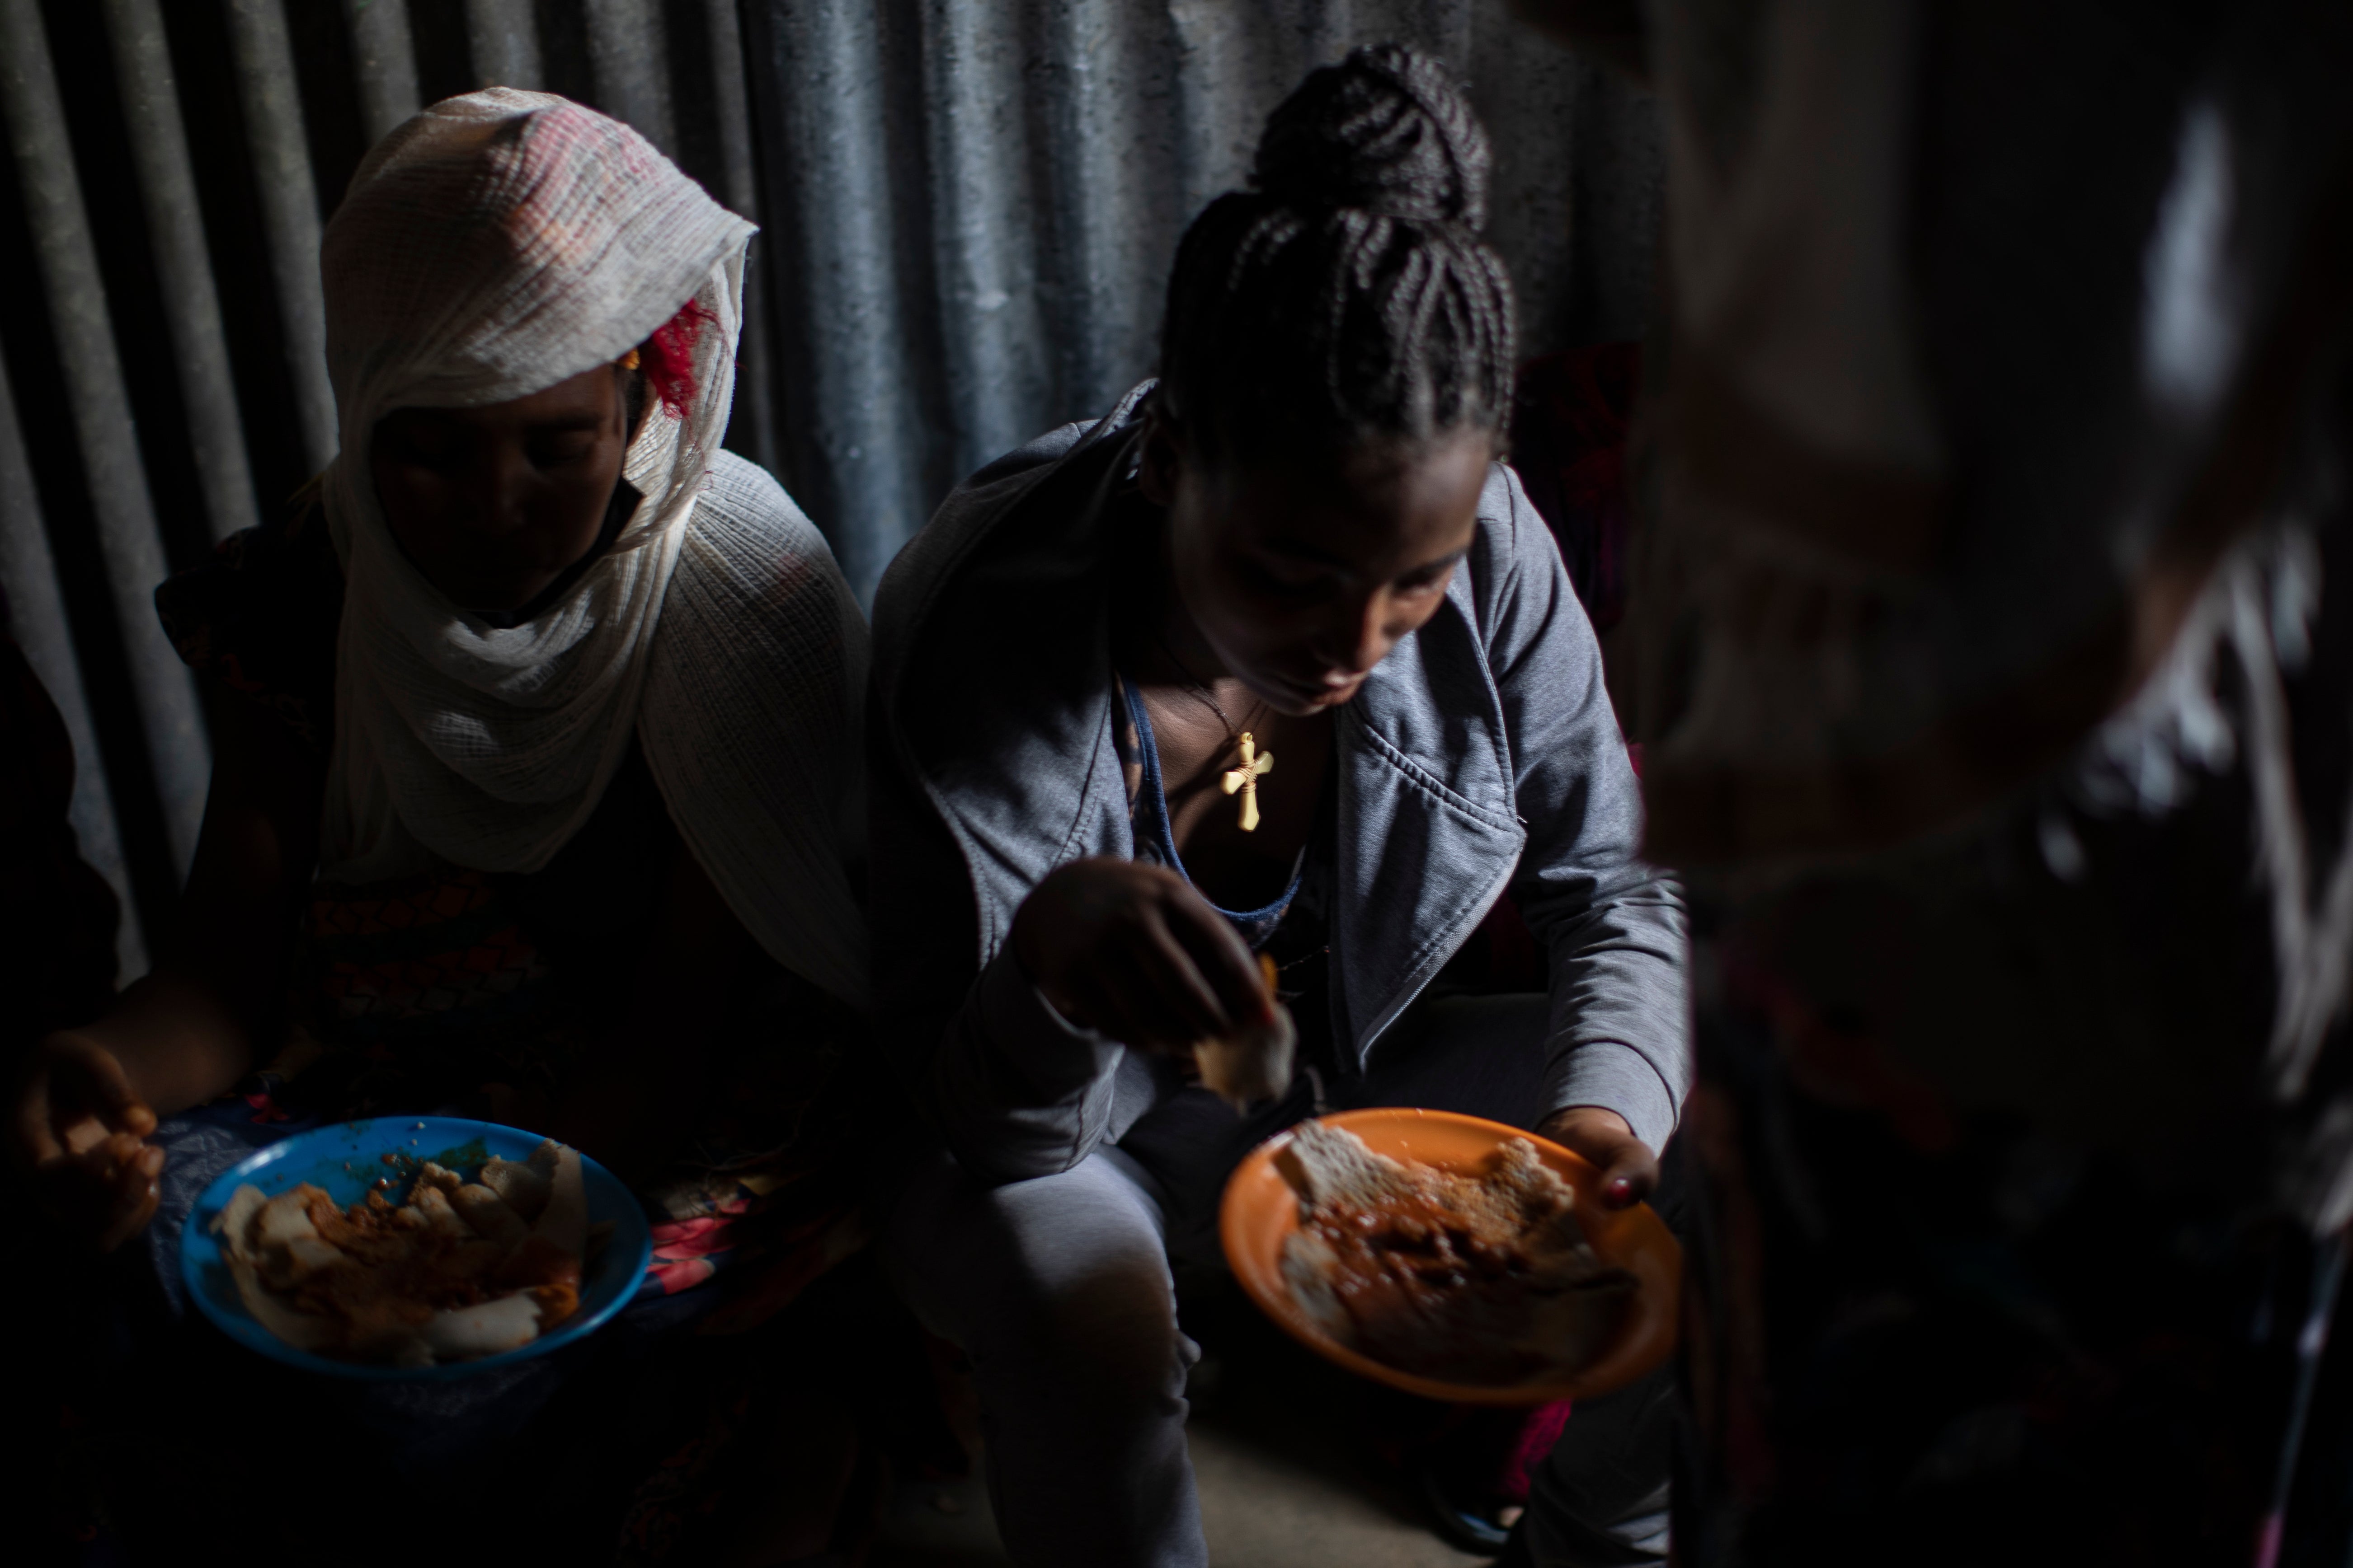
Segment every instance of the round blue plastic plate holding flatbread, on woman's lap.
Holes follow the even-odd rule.
[[[254,1349],[271,1361],[285,1361],[308,1373],[329,1378],[367,1378],[379,1382],[416,1382],[445,1378],[473,1378],[494,1366],[508,1366],[525,1356],[544,1356],[595,1333],[614,1312],[628,1305],[645,1279],[645,1265],[654,1258],[654,1234],[645,1222],[638,1199],[605,1166],[581,1154],[581,1185],[588,1197],[588,1225],[612,1220],[612,1237],[588,1262],[581,1276],[581,1305],[565,1324],[544,1333],[529,1345],[482,1356],[478,1361],[449,1361],[447,1366],[372,1366],[362,1361],[332,1361],[294,1349],[275,1333],[256,1324],[245,1302],[238,1300],[238,1284],[228,1276],[221,1258],[221,1239],[212,1234],[212,1222],[221,1218],[231,1194],[252,1182],[268,1197],[292,1192],[304,1182],[325,1187],[339,1206],[358,1204],[384,1175],[393,1175],[384,1154],[407,1154],[433,1159],[459,1175],[473,1178],[487,1159],[529,1159],[541,1143],[539,1133],[525,1133],[496,1121],[461,1121],[456,1117],[376,1117],[372,1121],[339,1121],[308,1133],[296,1133],[271,1145],[252,1159],[231,1166],[205,1187],[179,1227],[179,1274],[188,1284],[195,1305],[221,1326],[231,1340]],[[391,1197],[391,1192],[386,1194]]]

